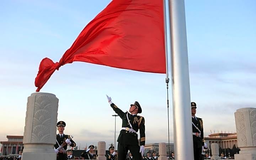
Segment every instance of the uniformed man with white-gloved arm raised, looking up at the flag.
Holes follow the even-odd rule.
[[[145,120],[144,117],[138,116],[137,113],[142,113],[142,108],[136,101],[130,105],[129,112],[123,112],[111,101],[111,97],[108,97],[108,102],[113,110],[122,119],[122,129],[120,131],[118,142],[118,160],[126,159],[128,150],[133,155],[135,160],[142,160],[145,146]],[[140,145],[138,141],[138,130],[140,130]]]

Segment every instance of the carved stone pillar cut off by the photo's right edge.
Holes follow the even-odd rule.
[[[235,112],[239,154],[236,160],[256,160],[256,108],[240,108]]]

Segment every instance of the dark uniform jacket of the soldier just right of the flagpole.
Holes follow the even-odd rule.
[[[198,118],[198,117],[196,117],[196,118],[197,118],[197,120],[192,118],[192,122],[201,131],[201,136],[193,135],[193,145],[194,145],[194,148],[202,148],[202,146],[204,145],[203,120],[202,120],[202,118]],[[192,124],[192,132],[193,133],[196,133],[196,132],[200,133],[194,125]]]

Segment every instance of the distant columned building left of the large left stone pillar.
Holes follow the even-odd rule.
[[[18,155],[18,151],[24,148],[22,135],[7,135],[7,141],[1,141],[2,155]]]

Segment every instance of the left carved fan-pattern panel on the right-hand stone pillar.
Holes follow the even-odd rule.
[[[247,146],[245,119],[242,112],[235,113],[238,147]]]

